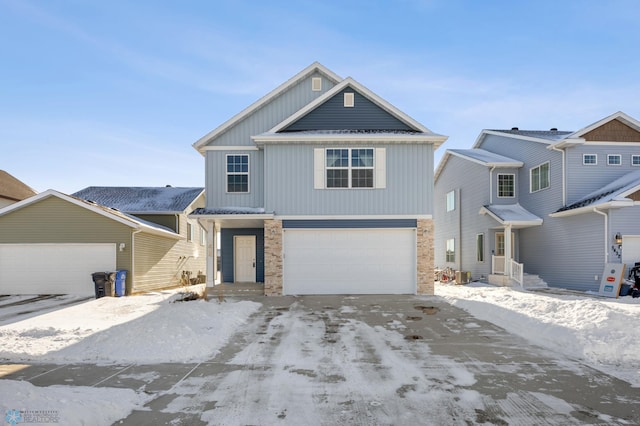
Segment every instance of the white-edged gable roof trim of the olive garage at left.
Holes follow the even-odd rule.
[[[78,197],[66,195],[61,192],[55,191],[53,189],[49,189],[47,191],[41,192],[32,197],[26,198],[22,201],[19,201],[3,209],[0,209],[0,216],[4,216],[8,213],[20,210],[24,207],[27,207],[31,204],[35,204],[39,201],[45,200],[50,197],[56,197],[63,201],[67,201],[71,204],[82,207],[84,209],[97,213],[101,216],[107,217],[111,220],[115,220],[116,222],[119,222],[133,229],[139,229],[141,231],[145,231],[151,234],[161,235],[163,237],[169,237],[169,238],[175,238],[175,239],[183,238],[179,234],[176,234],[175,232],[173,232],[171,229],[164,227],[162,225],[158,225],[152,222],[147,222],[145,220],[141,220],[135,216],[131,216],[121,211],[114,210],[109,207],[101,206],[94,202],[83,200]]]

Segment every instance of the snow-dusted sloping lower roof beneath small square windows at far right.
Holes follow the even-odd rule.
[[[561,207],[550,216],[571,216],[592,212],[594,208],[616,208],[633,205],[633,200],[627,198],[630,194],[640,190],[640,170],[627,173],[613,180],[602,188],[587,194],[580,200]]]

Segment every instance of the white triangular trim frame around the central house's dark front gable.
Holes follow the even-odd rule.
[[[360,130],[360,129],[333,129],[333,130],[314,130],[314,131],[299,131],[299,132],[284,132],[288,126],[291,126],[296,121],[305,117],[313,110],[324,104],[346,88],[351,88],[357,91],[360,95],[374,103],[376,106],[395,117],[399,121],[406,124],[413,130]],[[358,83],[351,77],[342,80],[339,84],[336,84],[331,90],[328,90],[322,96],[318,97],[314,101],[307,104],[305,107],[299,109],[293,115],[289,116],[284,121],[274,126],[268,132],[261,135],[253,136],[255,142],[282,142],[290,139],[295,140],[318,140],[318,139],[331,139],[331,138],[344,138],[345,135],[349,136],[349,139],[362,137],[364,139],[371,139],[372,137],[377,139],[402,139],[402,140],[420,140],[425,142],[433,142],[435,147],[442,145],[447,140],[447,136],[433,133],[423,124],[414,120],[391,103],[382,99],[380,96],[373,93],[371,90]]]

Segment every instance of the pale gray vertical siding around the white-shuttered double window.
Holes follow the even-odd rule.
[[[342,147],[384,148],[385,187],[314,189],[314,149]],[[265,209],[279,215],[430,215],[433,145],[371,142],[268,145],[265,195]]]

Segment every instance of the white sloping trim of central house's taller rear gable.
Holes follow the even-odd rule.
[[[300,71],[298,74],[291,77],[289,80],[282,83],[280,86],[273,89],[271,92],[267,93],[262,98],[258,99],[256,102],[249,105],[244,110],[240,111],[238,114],[231,117],[229,120],[222,123],[220,126],[216,127],[215,129],[213,129],[212,131],[210,131],[209,133],[207,133],[206,135],[198,139],[193,144],[193,147],[198,151],[201,151],[200,148],[207,145],[209,142],[211,142],[211,140],[215,139],[222,133],[226,132],[229,128],[239,123],[249,115],[253,114],[256,110],[262,108],[264,105],[271,102],[273,99],[275,99],[277,96],[279,96],[289,88],[293,87],[295,84],[300,82],[300,80],[307,78],[308,76],[310,76],[315,72],[319,72],[323,74],[325,77],[327,77],[329,80],[333,81],[334,83],[338,83],[341,80],[341,78],[337,74],[335,74],[333,71],[329,70],[319,62],[314,62],[311,65],[309,65],[307,68]]]

